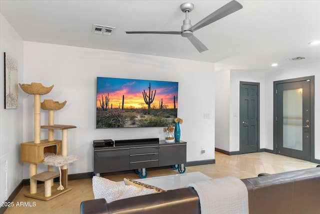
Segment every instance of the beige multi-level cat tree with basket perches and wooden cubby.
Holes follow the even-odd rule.
[[[76,126],[54,124],[54,111],[63,108],[66,101],[59,103],[53,100],[44,100],[40,103],[40,95],[49,93],[53,85],[44,87],[41,83],[31,83],[19,84],[19,86],[25,93],[33,94],[34,97],[34,141],[20,144],[20,161],[30,164],[30,192],[24,195],[50,200],[72,189],[67,185],[67,164],[74,162],[77,157],[67,155],[67,131],[76,128]],[[40,125],[40,108],[48,110],[48,125]],[[48,139],[40,140],[41,128],[48,130]],[[62,131],[61,140],[53,139],[54,130]],[[37,173],[37,164],[40,163],[48,165],[48,170]],[[54,172],[53,166],[59,167],[59,172]],[[56,177],[60,177],[60,185],[53,184],[53,178]],[[44,181],[44,187],[37,188],[37,181]]]

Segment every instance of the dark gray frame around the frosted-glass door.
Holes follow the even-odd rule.
[[[277,136],[277,127],[276,127],[276,85],[282,83],[291,83],[298,81],[307,81],[310,80],[310,161],[314,162],[314,76],[293,78],[287,80],[273,81],[273,153],[276,154],[276,136]]]

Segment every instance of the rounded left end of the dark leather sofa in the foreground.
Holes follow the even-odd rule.
[[[80,213],[108,213],[106,209],[106,200],[104,198],[84,200],[80,204]]]

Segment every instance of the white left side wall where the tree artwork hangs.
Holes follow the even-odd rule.
[[[22,142],[23,98],[18,93],[18,108],[4,109],[4,52],[18,62],[18,81],[22,81],[23,41],[0,14],[0,202],[5,201],[22,180],[19,145]],[[4,171],[6,162],[7,173]]]

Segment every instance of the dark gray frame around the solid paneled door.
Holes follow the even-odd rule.
[[[255,85],[257,86],[257,152],[260,152],[260,83],[257,82],[244,82],[240,81],[239,84],[239,99],[241,99],[241,85]],[[240,102],[239,102],[239,129],[242,126],[241,120],[240,120]],[[241,143],[241,137],[240,137],[240,131],[239,131],[239,154],[242,153],[242,143]]]

